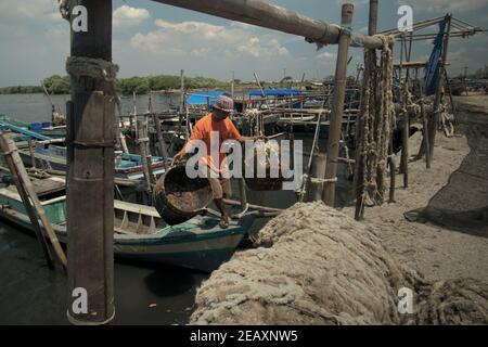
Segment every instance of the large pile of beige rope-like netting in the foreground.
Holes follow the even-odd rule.
[[[380,229],[321,202],[296,204],[203,283],[192,324],[488,323],[488,285],[431,284],[382,246]],[[400,314],[400,288],[414,293]]]

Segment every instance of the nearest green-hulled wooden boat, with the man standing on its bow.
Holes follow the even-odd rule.
[[[60,242],[66,243],[64,179],[33,180],[37,194]],[[167,226],[154,207],[121,201],[114,203],[114,254],[116,258],[160,262],[210,272],[232,257],[251,229],[254,216],[232,220],[220,229],[219,219],[198,216]],[[14,185],[0,188],[0,218],[31,230]]]

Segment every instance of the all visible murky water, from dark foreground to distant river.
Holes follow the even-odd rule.
[[[54,97],[61,108],[68,97]],[[171,101],[153,99],[155,111]],[[138,98],[139,111],[145,111],[147,98]],[[124,112],[132,108],[131,99],[123,99]],[[0,114],[24,121],[50,119],[50,104],[41,94],[0,95]],[[295,139],[300,139],[296,136]],[[303,137],[304,152],[311,139]],[[321,140],[321,149],[325,144]],[[304,163],[308,157],[304,157]],[[351,187],[339,168],[338,204],[351,196]],[[234,197],[239,185],[233,182]],[[248,192],[249,203],[286,208],[296,202],[293,191]],[[255,222],[258,230],[266,220]],[[185,324],[193,311],[194,295],[208,274],[151,264],[115,264],[116,324]],[[66,275],[47,268],[36,239],[25,231],[0,222],[0,324],[67,324]]]

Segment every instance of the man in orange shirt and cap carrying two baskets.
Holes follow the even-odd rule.
[[[221,163],[226,158],[224,153],[220,153],[217,158],[213,158],[210,149],[211,149],[211,133],[218,133],[218,149],[226,140],[236,140],[240,143],[244,143],[246,141],[256,141],[256,140],[265,140],[265,136],[258,137],[243,137],[239,133],[237,129],[233,125],[232,120],[229,119],[229,115],[234,111],[234,102],[231,98],[221,95],[217,99],[217,102],[214,105],[214,110],[211,113],[200,119],[195,127],[193,128],[192,134],[190,137],[191,140],[202,140],[205,142],[207,146],[207,156],[204,157],[205,164],[208,167],[207,179],[210,183],[211,191],[214,193],[214,201],[217,207],[220,210],[221,219],[219,222],[220,228],[227,229],[229,228],[229,216],[226,211],[226,205],[223,204],[224,197],[230,197],[231,184],[230,179],[222,177],[221,171]],[[183,146],[183,149],[175,155],[174,163],[178,163],[181,160],[183,155],[185,154],[185,147],[188,143]],[[218,163],[215,163],[217,159]],[[213,172],[211,172],[213,171]],[[214,175],[211,175],[214,174]]]

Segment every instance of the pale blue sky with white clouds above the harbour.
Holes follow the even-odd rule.
[[[218,0],[215,0],[218,1]],[[342,0],[272,0],[309,17],[337,24]],[[368,0],[355,4],[352,28],[367,33]],[[488,0],[380,0],[378,30],[397,27],[402,4],[413,9],[413,21],[451,12],[473,25],[488,27]],[[336,46],[317,51],[301,37],[245,25],[150,0],[113,0],[113,61],[119,77],[179,75],[230,80],[301,79],[333,75]],[[396,56],[399,56],[397,44]],[[412,60],[427,60],[432,41],[415,42]],[[65,75],[69,54],[69,26],[61,18],[57,0],[0,1],[0,87],[38,85],[53,74]],[[355,75],[362,49],[351,48],[348,73]],[[468,66],[488,64],[488,35],[454,38],[449,43],[451,75]]]

